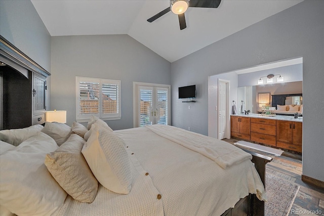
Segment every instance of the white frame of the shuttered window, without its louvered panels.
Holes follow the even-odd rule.
[[[99,113],[80,114],[80,82],[98,82],[99,83]],[[102,113],[102,84],[117,85],[117,113]],[[76,99],[76,122],[87,122],[91,115],[97,116],[102,120],[119,120],[121,119],[121,81],[115,79],[103,79],[85,76],[75,76],[75,99]]]

